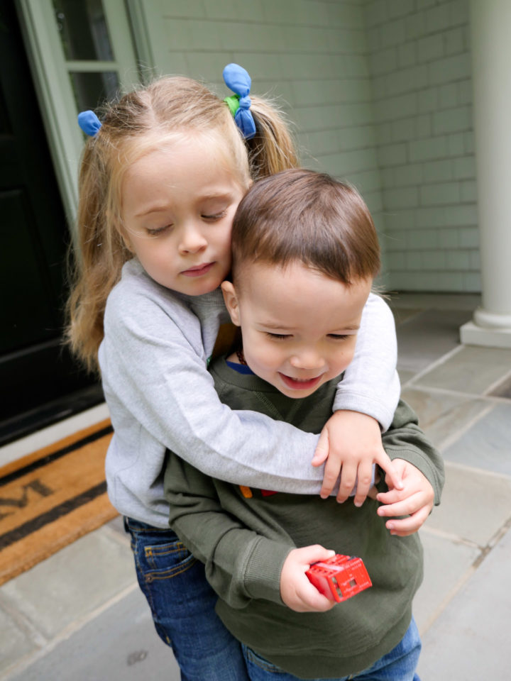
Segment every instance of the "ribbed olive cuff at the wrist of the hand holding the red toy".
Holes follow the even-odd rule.
[[[258,538],[246,563],[243,580],[251,598],[262,598],[283,605],[280,598],[280,573],[292,549],[292,546],[280,541]]]

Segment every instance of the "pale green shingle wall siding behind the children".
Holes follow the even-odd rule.
[[[156,71],[246,67],[375,216],[390,289],[480,290],[468,0],[144,0]]]

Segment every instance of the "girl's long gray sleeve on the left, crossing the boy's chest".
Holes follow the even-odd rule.
[[[318,435],[221,404],[207,371],[197,318],[197,328],[185,329],[185,335],[179,320],[148,297],[111,302],[100,364],[113,421],[112,407],[117,409],[119,446],[123,431],[132,440],[135,431],[139,449],[150,436],[212,477],[319,494],[323,469],[310,463]]]

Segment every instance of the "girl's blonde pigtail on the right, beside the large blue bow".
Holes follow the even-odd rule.
[[[274,175],[298,165],[295,143],[284,115],[268,100],[251,96],[256,133],[245,140],[253,179]]]

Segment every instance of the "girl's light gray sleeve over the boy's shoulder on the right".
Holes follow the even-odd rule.
[[[353,361],[339,383],[334,410],[361,411],[386,431],[400,398],[395,323],[388,304],[370,294],[364,307]]]

